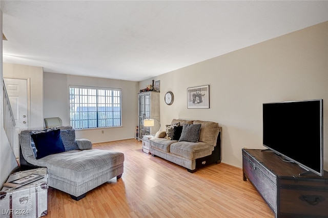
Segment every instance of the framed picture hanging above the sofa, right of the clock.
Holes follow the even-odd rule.
[[[187,88],[187,108],[210,108],[210,85]]]

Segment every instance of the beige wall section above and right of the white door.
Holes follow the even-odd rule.
[[[4,63],[4,77],[28,81],[28,126],[29,129],[43,128],[43,68]]]

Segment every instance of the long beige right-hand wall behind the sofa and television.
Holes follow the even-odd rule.
[[[328,22],[150,78],[139,88],[152,80],[160,80],[162,126],[172,118],[218,122],[222,162],[237,167],[243,147],[264,148],[263,103],[323,98],[328,170]],[[210,109],[187,109],[187,88],[200,85],[210,85]],[[167,91],[174,93],[171,106],[164,102]]]

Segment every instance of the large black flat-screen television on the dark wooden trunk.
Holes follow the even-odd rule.
[[[323,100],[264,103],[263,146],[322,176]]]

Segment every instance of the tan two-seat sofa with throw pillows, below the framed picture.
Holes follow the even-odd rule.
[[[173,119],[150,139],[150,153],[186,167],[191,173],[197,168],[221,163],[222,127],[210,121]],[[199,128],[199,129],[198,129]]]

